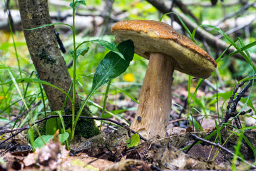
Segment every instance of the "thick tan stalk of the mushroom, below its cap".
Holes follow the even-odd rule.
[[[132,130],[144,138],[165,137],[172,105],[171,86],[175,60],[163,53],[150,53]]]

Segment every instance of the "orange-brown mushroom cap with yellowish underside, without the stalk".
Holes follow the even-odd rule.
[[[120,21],[111,31],[118,42],[132,40],[139,56],[149,58],[155,52],[173,57],[175,70],[190,76],[208,78],[217,67],[203,48],[160,21]]]

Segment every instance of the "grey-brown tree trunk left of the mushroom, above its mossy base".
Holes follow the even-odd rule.
[[[24,29],[51,24],[47,0],[19,0],[19,10]],[[68,92],[72,80],[58,49],[53,28],[54,26],[46,26],[36,30],[24,30],[24,36],[39,78]],[[43,85],[43,88],[51,110],[61,110],[66,95],[51,86]],[[79,98],[76,95],[76,105],[78,103]],[[71,108],[70,100],[66,108]]]

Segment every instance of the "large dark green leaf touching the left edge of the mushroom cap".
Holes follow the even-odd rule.
[[[111,81],[113,78],[120,76],[121,73],[126,71],[130,64],[130,61],[133,60],[133,41],[123,41],[118,44],[117,48],[118,51],[123,54],[126,61],[113,51],[110,51],[96,68],[96,73],[93,77],[93,86],[91,88],[93,92],[103,84]]]

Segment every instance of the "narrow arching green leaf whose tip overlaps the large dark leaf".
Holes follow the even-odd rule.
[[[89,43],[89,42],[97,43],[98,45],[100,45],[100,46],[102,46],[104,48],[107,48],[110,51],[113,51],[114,53],[116,53],[119,56],[121,56],[121,58],[125,59],[123,57],[123,54],[120,51],[118,51],[118,48],[116,47],[116,45],[114,43],[111,43],[111,42],[108,42],[108,41],[103,41],[103,40],[100,40],[100,39],[91,40],[91,41],[83,41],[82,43],[80,43],[78,45],[78,47],[81,46],[83,43]]]

